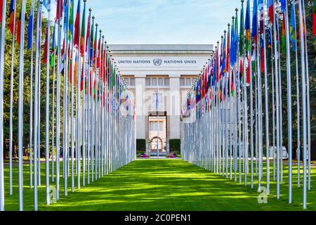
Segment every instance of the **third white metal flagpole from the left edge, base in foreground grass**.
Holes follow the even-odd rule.
[[[20,72],[19,72],[19,107],[18,107],[18,157],[19,157],[19,208],[23,211],[23,73],[24,73],[24,35],[25,35],[25,0],[21,5],[20,32]]]

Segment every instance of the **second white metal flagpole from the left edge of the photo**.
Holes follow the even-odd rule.
[[[14,44],[15,44],[15,21],[16,21],[16,1],[13,1],[13,34],[11,46],[11,85],[10,85],[10,141],[9,141],[9,176],[10,176],[10,195],[13,195],[13,168],[12,168],[12,153],[13,153],[13,78],[14,78]],[[32,157],[31,155],[29,156]]]

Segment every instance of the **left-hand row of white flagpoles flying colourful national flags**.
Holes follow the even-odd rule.
[[[32,1],[25,49],[25,18],[27,8],[21,1],[20,19],[16,24],[16,0],[11,0],[9,28],[12,34],[11,98],[9,137],[9,194],[13,180],[18,179],[19,210],[23,210],[23,120],[29,120],[29,188],[34,189],[34,210],[38,210],[41,186],[41,142],[45,142],[46,205],[60,199],[60,179],[67,196],[68,179],[71,191],[119,169],[133,161],[135,149],[135,116],[133,100],[114,63],[111,51],[91,9],[86,18],[86,0],[77,14],[74,0],[58,0],[55,21],[51,20],[51,0]],[[4,34],[6,32],[6,1],[1,4],[0,48],[0,210],[5,209],[4,181]],[[36,27],[34,8],[37,6]],[[42,11],[46,8],[46,38],[42,45]],[[82,18],[82,19],[81,19]],[[75,20],[74,20],[75,19]],[[88,22],[88,23],[86,23]],[[53,27],[53,33],[51,28]],[[13,176],[13,72],[15,30],[20,45],[18,83],[18,177]],[[35,28],[35,30],[34,30]],[[95,32],[94,32],[95,30]],[[35,33],[35,36],[34,36]],[[63,41],[62,41],[63,39]],[[23,113],[24,53],[31,51],[30,114]],[[42,51],[43,50],[43,51]],[[33,55],[35,51],[35,57]],[[41,94],[42,64],[46,65],[46,101]],[[53,76],[51,76],[53,75]],[[53,77],[53,78],[52,78]],[[34,79],[33,79],[34,78]],[[63,79],[62,79],[63,78]],[[53,87],[51,87],[53,79]],[[34,83],[33,83],[34,82]],[[33,95],[34,87],[34,95]],[[55,89],[56,88],[56,89]],[[53,92],[53,93],[51,93]],[[53,96],[51,99],[51,96]],[[41,102],[45,102],[45,123],[41,121]],[[56,102],[56,104],[55,104]],[[61,113],[62,109],[62,113]],[[51,112],[53,112],[51,114]],[[45,124],[45,141],[41,141],[41,124]],[[62,125],[62,128],[60,127]],[[56,150],[56,152],[55,152]],[[50,157],[51,155],[51,157]],[[74,158],[75,155],[75,158]],[[61,160],[62,156],[62,160]],[[62,162],[62,167],[60,166]],[[76,164],[76,167],[74,167]],[[82,169],[81,169],[82,165]],[[60,172],[62,169],[62,172]],[[51,190],[55,189],[55,197]],[[55,199],[54,199],[55,198]]]

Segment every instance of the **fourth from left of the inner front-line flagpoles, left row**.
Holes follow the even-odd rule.
[[[48,0],[48,21],[47,21],[47,60],[46,60],[46,204],[50,204],[50,197],[49,197],[49,79],[50,79],[50,72],[49,72],[49,51],[50,51],[50,41],[51,41],[51,0]]]

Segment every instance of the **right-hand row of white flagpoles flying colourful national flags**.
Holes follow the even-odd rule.
[[[316,4],[315,1],[313,4]],[[254,179],[257,178],[258,191],[264,191],[264,187],[268,195],[271,193],[272,169],[273,181],[276,181],[277,186],[277,199],[280,198],[281,184],[284,184],[283,176],[287,172],[291,204],[294,172],[292,141],[296,139],[298,187],[301,186],[301,146],[303,147],[303,208],[306,209],[311,179],[311,153],[305,4],[303,0],[254,0],[252,7],[251,17],[250,0],[247,0],[244,16],[242,0],[240,22],[239,10],[236,9],[232,24],[228,24],[228,32],[225,31],[221,37],[220,46],[218,41],[216,51],[197,77],[192,91],[183,103],[182,155],[187,162],[235,179],[240,184],[244,176],[245,186],[248,185],[250,173],[251,188],[254,188]],[[282,37],[279,34],[279,21],[282,22]],[[301,57],[298,53],[301,53]],[[291,60],[294,55],[295,60]],[[286,62],[286,72],[281,69],[281,61]],[[295,63],[292,63],[293,61]],[[301,67],[298,66],[300,62]],[[287,77],[287,92],[282,89],[283,74]],[[298,114],[295,119],[292,116],[291,97],[291,81],[294,77]],[[285,161],[282,130],[282,95],[285,93],[289,142],[287,171],[283,166]],[[300,122],[301,115],[303,124]],[[298,124],[297,137],[292,135],[292,119]],[[303,133],[300,126],[303,127]]]

